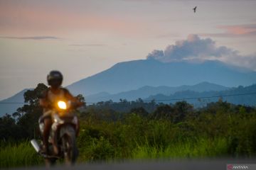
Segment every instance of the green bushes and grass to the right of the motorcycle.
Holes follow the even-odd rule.
[[[152,113],[134,108],[118,120],[107,120],[102,109],[97,115],[85,112],[80,147],[89,149],[92,141],[104,139],[104,157],[82,152],[80,161],[109,159],[150,159],[173,157],[254,157],[256,154],[256,110],[218,101],[194,110],[186,102],[160,105]],[[101,138],[102,137],[102,138]],[[86,143],[85,141],[91,142]],[[113,152],[114,149],[114,152]],[[84,154],[83,154],[84,153]],[[93,155],[93,154],[92,154]],[[83,158],[82,158],[83,157]]]

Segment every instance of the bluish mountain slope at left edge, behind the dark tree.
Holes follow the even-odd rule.
[[[28,90],[29,89],[23,89],[22,91],[18,92],[18,94],[0,101],[0,117],[6,113],[12,114],[17,108],[23,106],[23,94]]]

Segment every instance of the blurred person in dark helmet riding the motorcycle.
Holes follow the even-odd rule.
[[[70,101],[75,103],[75,106],[82,106],[82,102],[75,98],[68,89],[61,87],[63,82],[63,75],[59,71],[51,71],[47,76],[48,85],[50,86],[39,98],[39,104],[43,107],[44,129],[43,129],[43,149],[42,152],[48,154],[48,138],[50,135],[50,128],[53,124],[51,118],[51,109],[56,101]],[[55,154],[58,154],[58,147],[53,146]]]

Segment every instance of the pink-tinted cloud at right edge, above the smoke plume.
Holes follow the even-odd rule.
[[[256,24],[245,24],[235,26],[218,26],[217,28],[225,30],[224,33],[203,33],[201,36],[210,37],[228,37],[228,38],[240,38],[245,36],[256,36]]]

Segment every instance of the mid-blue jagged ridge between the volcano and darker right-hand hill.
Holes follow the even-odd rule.
[[[170,95],[174,94],[177,91],[223,91],[229,89],[225,86],[220,86],[218,84],[210,84],[208,82],[202,82],[200,84],[196,84],[193,86],[177,86],[177,87],[169,87],[169,86],[143,86],[142,88],[139,88],[137,90],[132,91],[125,91],[118,94],[108,94],[101,92],[99,94],[86,96],[86,101],[88,103],[90,102],[99,102],[99,101],[119,101],[120,98],[127,99],[128,101],[135,101],[138,98],[147,98],[151,95],[156,94],[164,94],[164,95]]]

